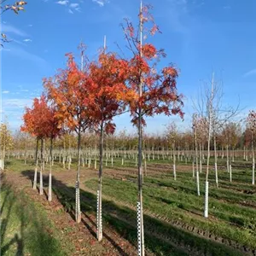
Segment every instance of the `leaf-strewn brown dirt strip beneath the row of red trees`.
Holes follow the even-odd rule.
[[[93,172],[90,172],[90,174],[85,172],[82,173],[81,179],[94,175]],[[96,218],[94,215],[82,213],[82,221],[77,224],[71,215],[65,211],[54,193],[52,201],[49,202],[47,201],[47,191],[44,191],[44,195],[39,195],[38,191],[32,189],[30,177],[25,177],[16,172],[5,172],[4,174],[6,182],[12,184],[17,192],[22,189],[33,201],[37,201],[44,207],[49,218],[55,223],[56,228],[61,233],[65,233],[68,241],[73,243],[76,248],[73,255],[137,255],[137,247],[132,245],[130,241],[125,240],[124,237],[119,236],[108,226],[103,227],[102,241],[97,241]],[[76,175],[75,172],[56,172],[55,177],[63,181],[63,183],[73,183]],[[150,254],[147,253],[147,255]]]

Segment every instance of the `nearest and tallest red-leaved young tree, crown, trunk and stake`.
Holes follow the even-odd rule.
[[[139,25],[135,26],[126,20],[123,26],[128,48],[131,50],[130,74],[128,86],[134,92],[134,98],[129,102],[131,122],[138,130],[138,251],[144,255],[143,230],[143,125],[145,117],[164,113],[166,115],[180,114],[183,106],[182,96],[177,94],[177,69],[173,66],[162,68],[157,72],[156,64],[165,56],[164,50],[157,50],[153,44],[143,44],[148,35],[159,32],[154,24],[149,6],[141,2]]]

